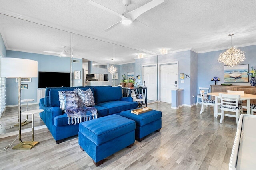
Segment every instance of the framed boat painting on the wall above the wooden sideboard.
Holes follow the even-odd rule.
[[[247,83],[249,82],[248,64],[240,64],[236,67],[224,65],[224,82]]]

